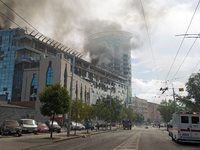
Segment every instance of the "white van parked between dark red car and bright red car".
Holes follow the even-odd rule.
[[[33,119],[20,119],[19,124],[22,127],[22,133],[37,134],[37,124]]]

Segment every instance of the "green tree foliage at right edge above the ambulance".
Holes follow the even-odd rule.
[[[177,96],[176,100],[182,106],[185,106],[187,111],[200,111],[200,73],[192,74],[186,83],[187,96]]]

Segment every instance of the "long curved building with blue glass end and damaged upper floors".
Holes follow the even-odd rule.
[[[54,61],[61,55],[57,56],[58,53],[62,53],[63,59],[55,65]],[[118,97],[126,103],[131,93],[126,76],[115,70],[93,65],[82,59],[82,54],[68,46],[28,28],[0,30],[0,96],[7,97],[6,99],[11,102],[37,101],[38,91],[47,84],[45,75],[47,72],[49,83],[53,80],[53,83],[59,82],[69,89],[71,74],[68,71],[71,71],[70,62],[73,54],[75,54],[73,97],[95,104],[100,96],[111,93],[111,96]],[[45,56],[44,59],[41,55]],[[45,61],[50,59],[51,63]],[[51,77],[52,72],[53,77]]]

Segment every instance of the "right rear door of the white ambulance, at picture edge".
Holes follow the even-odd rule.
[[[200,138],[200,115],[192,114],[191,115],[191,136],[194,138]]]

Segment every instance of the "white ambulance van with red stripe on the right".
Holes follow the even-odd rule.
[[[169,135],[176,142],[200,143],[200,113],[174,113]]]

